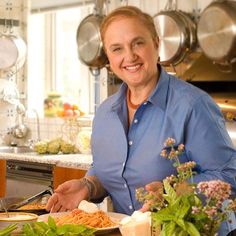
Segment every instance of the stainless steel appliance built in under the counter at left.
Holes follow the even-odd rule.
[[[53,166],[7,160],[6,197],[28,197],[53,186]]]

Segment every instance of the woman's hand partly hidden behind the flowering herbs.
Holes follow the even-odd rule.
[[[160,181],[151,182],[145,185],[145,190],[155,196],[155,200],[161,199],[163,195],[163,184]],[[141,212],[149,211],[150,206],[153,204],[153,200],[150,200],[143,204],[140,209]]]

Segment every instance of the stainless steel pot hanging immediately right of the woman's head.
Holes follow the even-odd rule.
[[[160,38],[160,63],[177,65],[196,46],[196,25],[190,15],[177,10],[161,11],[154,16]]]

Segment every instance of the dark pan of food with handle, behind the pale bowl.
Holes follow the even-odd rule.
[[[42,215],[47,213],[45,209],[47,198],[52,195],[51,189],[43,190],[28,198],[24,197],[6,197],[1,198],[0,212],[27,212]],[[46,198],[47,196],[47,198]],[[46,198],[46,200],[45,200]]]

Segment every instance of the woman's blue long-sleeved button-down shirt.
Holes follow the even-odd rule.
[[[195,182],[221,179],[236,190],[236,150],[207,93],[161,69],[155,90],[128,127],[126,91],[122,84],[97,110],[93,167],[87,173],[99,178],[116,212],[132,214],[141,207],[135,189],[176,173],[171,161],[160,156],[168,137],[185,145],[182,161],[197,163]]]

